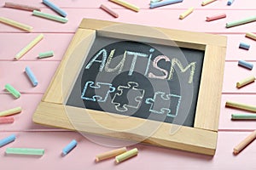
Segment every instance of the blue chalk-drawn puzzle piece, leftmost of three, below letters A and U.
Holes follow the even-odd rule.
[[[111,83],[107,82],[96,82],[96,86],[94,86],[94,82],[88,81],[84,85],[84,90],[81,95],[81,99],[97,101],[97,102],[106,102],[108,99],[108,95],[113,93],[115,88]]]

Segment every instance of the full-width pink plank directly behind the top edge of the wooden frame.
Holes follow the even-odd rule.
[[[45,13],[55,14],[49,8],[44,9]],[[173,10],[162,10],[162,9],[143,9],[139,13],[132,12],[131,10],[116,9],[116,12],[121,16],[121,18],[115,19],[111,15],[102,11],[102,9],[95,8],[77,8],[73,10],[72,8],[67,8],[66,12],[68,14],[68,22],[66,24],[61,24],[52,20],[45,20],[43,18],[38,18],[32,16],[31,13],[20,10],[12,10],[10,12],[9,8],[0,8],[0,13],[3,17],[20,21],[26,25],[33,26],[32,32],[75,32],[79,23],[83,18],[97,19],[97,20],[112,20],[121,21],[124,23],[137,24],[143,26],[155,26],[171,28],[176,30],[184,31],[198,31],[198,32],[213,32],[213,33],[241,33],[247,31],[253,31],[253,23],[246,24],[243,26],[236,26],[232,28],[225,28],[226,22],[239,20],[253,16],[253,10],[222,10],[220,13],[226,13],[228,18],[224,20],[216,20],[212,22],[207,22],[206,16],[216,14],[216,10],[195,10],[193,14],[189,15],[189,18],[185,20],[179,20],[179,14],[183,13],[183,9],[173,9]],[[237,16],[236,14],[240,14]],[[159,20],[159,16],[169,16],[166,20]],[[150,20],[145,20],[145,18],[150,18]],[[134,20],[137,19],[137,20]],[[196,24],[195,24],[196,23]],[[20,31],[11,26],[5,26],[1,23],[0,32],[24,32]]]

